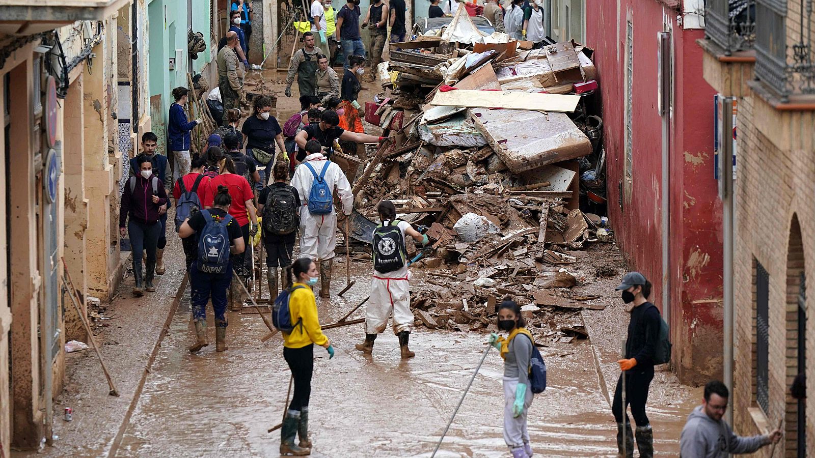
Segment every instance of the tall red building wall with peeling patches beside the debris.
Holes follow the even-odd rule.
[[[670,4],[669,4],[670,3]],[[662,118],[658,95],[658,33],[672,33],[670,119],[670,325],[673,362],[681,380],[721,374],[721,202],[713,177],[713,95],[703,79],[699,29],[677,24],[681,7],[667,0],[593,2],[586,12],[587,45],[600,79],[609,218],[632,270],[654,284],[662,301]],[[632,183],[626,186],[625,90],[628,21],[632,22]]]

